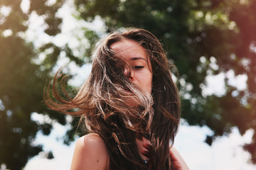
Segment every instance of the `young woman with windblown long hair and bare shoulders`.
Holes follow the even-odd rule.
[[[92,72],[75,98],[50,108],[85,120],[71,169],[188,169],[171,145],[178,130],[180,99],[174,67],[149,31],[111,33],[93,54]],[[73,109],[75,108],[75,109]],[[73,112],[71,112],[73,110]]]

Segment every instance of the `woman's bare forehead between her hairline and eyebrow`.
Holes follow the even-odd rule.
[[[146,50],[134,40],[124,39],[114,42],[110,45],[110,48],[114,50],[119,57],[124,57],[126,60],[133,60],[134,58],[147,60]]]

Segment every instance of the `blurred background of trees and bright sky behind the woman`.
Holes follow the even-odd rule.
[[[191,169],[256,169],[255,0],[0,0],[0,169],[70,169],[78,118],[43,103],[55,72],[90,73],[112,30],[154,33],[176,64],[175,146]]]

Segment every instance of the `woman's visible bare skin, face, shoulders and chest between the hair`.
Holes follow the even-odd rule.
[[[129,64],[131,68],[130,77],[128,77],[128,68],[124,68],[124,75],[134,84],[151,94],[153,74],[151,72],[151,63],[146,56],[144,48],[133,40],[114,42],[110,48],[117,53],[118,57],[122,57]],[[141,135],[137,135],[136,142],[139,154],[142,159],[147,160],[150,169],[151,145],[149,140],[146,140]],[[176,170],[188,169],[181,155],[178,154],[174,147],[170,148],[170,155]],[[107,147],[100,135],[91,133],[80,137],[75,146],[71,164],[72,170],[103,170],[107,169],[109,163]]]

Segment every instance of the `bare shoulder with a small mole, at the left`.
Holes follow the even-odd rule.
[[[100,135],[91,133],[80,137],[75,145],[71,169],[107,169],[109,154]]]

